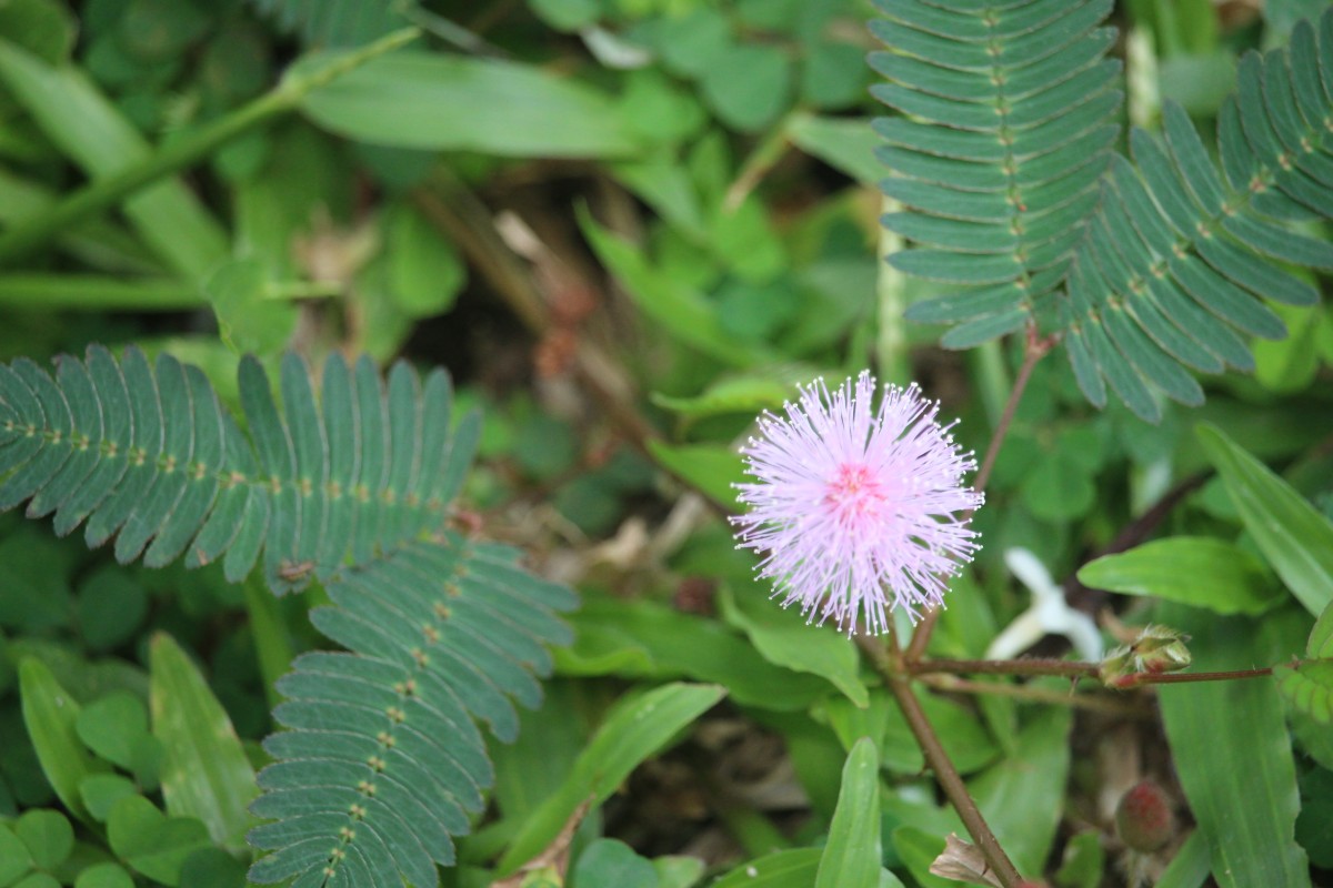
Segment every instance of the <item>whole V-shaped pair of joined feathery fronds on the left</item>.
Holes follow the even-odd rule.
[[[240,366],[249,437],[204,374],[131,349],[0,365],[0,509],[28,502],[89,545],[115,537],[121,562],[199,566],[232,580],[263,554],[272,588],[319,576],[333,602],[315,624],[347,652],[308,654],[284,678],[260,774],[253,844],[273,851],[253,881],[436,884],[492,783],[475,720],[501,740],[516,700],[536,706],[556,614],[573,594],[525,574],[517,553],[448,530],[480,429],[451,431],[443,371],[405,363],[380,383],[369,359],[283,361],[283,407],[259,362]]]

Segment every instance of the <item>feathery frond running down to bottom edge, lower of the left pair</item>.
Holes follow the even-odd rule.
[[[307,654],[279,683],[251,841],[275,849],[251,871],[293,885],[436,884],[451,836],[468,831],[492,783],[480,719],[517,732],[509,698],[536,706],[547,644],[568,644],[564,587],[515,566],[516,553],[453,534],[335,574],[315,624],[356,654]],[[385,879],[385,876],[391,876]]]

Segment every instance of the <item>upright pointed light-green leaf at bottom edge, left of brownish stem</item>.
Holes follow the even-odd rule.
[[[861,738],[842,768],[842,788],[814,888],[876,888],[880,884],[880,792],[874,740]]]

